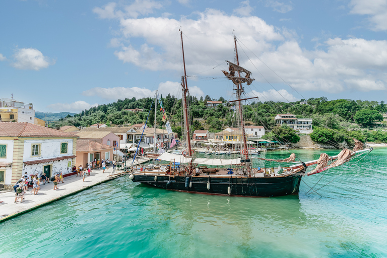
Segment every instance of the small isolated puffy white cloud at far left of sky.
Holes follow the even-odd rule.
[[[21,48],[16,51],[12,66],[16,69],[39,71],[54,63],[54,60],[44,56],[38,49]]]

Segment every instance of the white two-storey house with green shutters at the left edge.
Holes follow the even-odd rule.
[[[28,122],[0,122],[0,183],[13,185],[24,172],[71,173],[77,138]]]

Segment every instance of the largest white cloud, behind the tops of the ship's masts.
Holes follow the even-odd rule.
[[[171,42],[176,38],[180,25],[189,38],[187,40],[184,36],[186,68],[190,74],[210,70],[226,58],[234,58],[232,28],[239,28],[237,36],[256,53],[273,48],[269,42],[284,40],[278,29],[258,17],[227,16],[208,9],[199,13],[197,20],[165,17],[122,19],[120,27],[123,38],[141,38],[145,42],[123,46],[114,54],[123,62],[133,63],[142,69],[180,72],[180,43]]]

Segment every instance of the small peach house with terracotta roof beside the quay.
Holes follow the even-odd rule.
[[[82,165],[87,167],[87,164],[96,159],[109,159],[112,161],[114,147],[106,144],[97,143],[91,140],[77,141],[77,162],[76,166]]]

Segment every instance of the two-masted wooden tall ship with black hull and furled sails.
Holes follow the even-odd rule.
[[[244,91],[243,84],[250,85],[254,79],[251,77],[251,72],[239,66],[237,39],[234,36],[235,61],[227,60],[228,71],[222,72],[227,79],[232,81],[235,90],[236,99],[229,102],[235,102],[236,104],[234,108],[237,113],[236,125],[241,133],[241,141],[235,147],[237,154],[231,159],[195,158],[191,147],[191,134],[188,122],[188,84],[181,30],[180,37],[184,68],[184,75],[181,77],[181,87],[186,148],[182,151],[182,154],[165,152],[158,156],[158,159],[166,161],[166,164],[131,168],[130,179],[134,182],[167,190],[210,195],[241,197],[286,196],[298,193],[303,176],[340,166],[350,162],[355,157],[372,151],[372,148],[364,148],[361,142],[354,139],[355,147],[353,150],[343,149],[336,156],[321,153],[318,160],[301,161],[294,153],[291,153],[289,158],[282,160],[259,159],[293,165],[284,167],[253,167],[243,120],[242,101],[247,98],[241,98],[241,96]],[[296,159],[299,161],[296,161]]]

